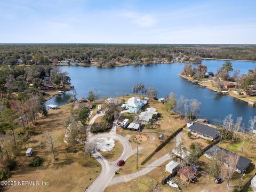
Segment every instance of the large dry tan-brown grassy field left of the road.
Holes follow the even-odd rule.
[[[63,142],[66,127],[65,118],[69,114],[70,105],[49,111],[47,117],[38,119],[34,126],[35,134],[29,139],[26,147],[33,147],[33,155],[26,157],[26,149],[18,156],[18,165],[12,171],[9,181],[46,181],[49,186],[11,186],[7,191],[83,191],[89,186],[101,171],[101,166],[94,158],[84,155],[82,151],[67,153]],[[53,161],[50,145],[45,143],[43,135],[49,132],[55,142],[55,153],[58,161]],[[42,145],[44,144],[44,145]],[[40,156],[44,162],[39,167],[29,167],[35,156]]]

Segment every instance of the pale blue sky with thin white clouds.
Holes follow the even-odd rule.
[[[256,44],[254,0],[0,0],[0,43]]]

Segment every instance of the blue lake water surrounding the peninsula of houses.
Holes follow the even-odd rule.
[[[222,60],[203,60],[208,71],[215,74],[217,69],[225,63]],[[234,69],[247,73],[256,66],[256,62],[231,61]],[[186,63],[163,63],[140,66],[122,67],[61,67],[67,70],[71,78],[71,84],[75,86],[78,97],[87,97],[90,90],[97,90],[101,97],[118,97],[132,94],[132,86],[143,82],[145,85],[155,87],[159,94],[158,98],[165,97],[170,92],[184,95],[186,98],[195,98],[202,102],[199,117],[210,119],[212,124],[221,124],[222,119],[228,114],[234,118],[242,116],[245,126],[248,125],[250,116],[256,115],[256,108],[248,106],[246,102],[234,99],[227,95],[219,95],[207,88],[192,85],[179,77],[180,71]],[[68,95],[56,96],[46,101],[46,105],[64,105]]]

